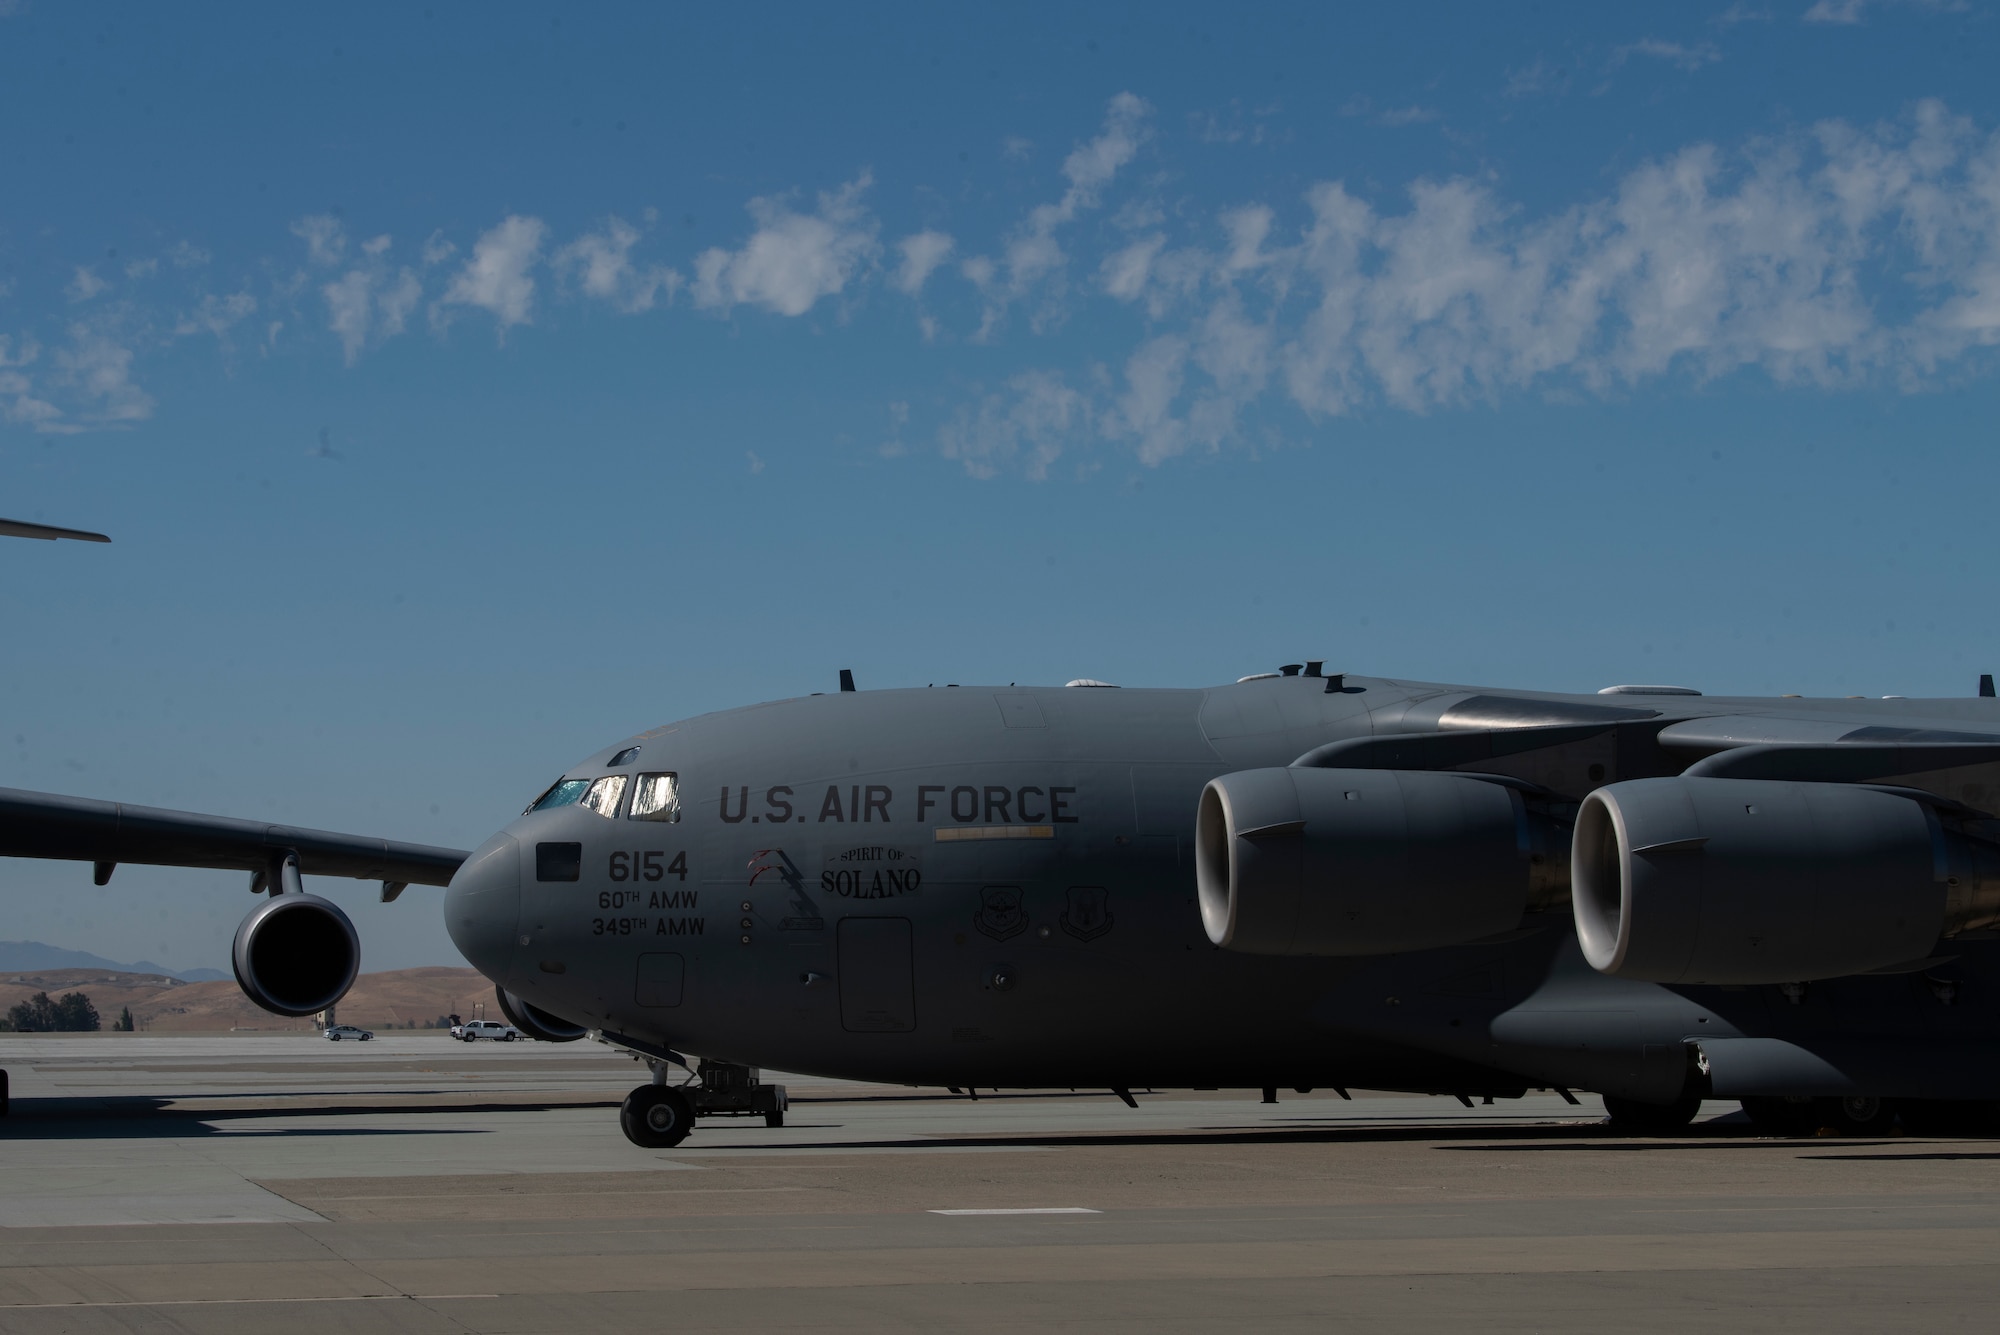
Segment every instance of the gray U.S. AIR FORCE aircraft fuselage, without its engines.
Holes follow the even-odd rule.
[[[1354,737],[1612,723],[1462,765],[1582,797],[1678,773],[1704,753],[1704,729],[1740,715],[1802,739],[2000,733],[1988,699],[1546,695],[1352,675],[812,695],[604,747],[566,777],[670,773],[680,819],[634,819],[632,781],[608,811],[530,809],[466,861],[446,915],[482,973],[590,1029],[914,1085],[1574,1085],[1670,1099],[1694,1037],[1992,1031],[1992,989],[1968,985],[1996,975],[1984,941],[1954,945],[1950,979],[1836,979],[1800,999],[1604,977],[1578,955],[1566,903],[1484,941],[1372,957],[1248,955],[1204,933],[1194,813],[1218,775]],[[1672,729],[1684,735],[1662,741]],[[1952,779],[1954,799],[2000,795],[1990,767]]]

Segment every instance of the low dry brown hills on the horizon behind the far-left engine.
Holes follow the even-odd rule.
[[[132,1007],[140,1033],[254,1029],[262,1033],[310,1031],[310,1019],[286,1019],[250,1005],[236,979],[190,983],[166,973],[122,969],[0,969],[0,1015],[38,991],[90,997],[108,1029],[118,1011]],[[494,985],[476,969],[390,969],[362,973],[338,1007],[338,1019],[368,1029],[422,1027],[458,1011],[472,1017],[480,1003],[498,1019]]]

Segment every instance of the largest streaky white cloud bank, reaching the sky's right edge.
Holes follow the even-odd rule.
[[[2000,134],[1934,102],[1696,144],[1556,214],[1450,178],[1386,210],[1322,182],[1302,212],[1214,224],[1220,244],[1154,230],[1100,260],[1102,290],[1152,322],[1116,378],[1016,378],[950,420],[944,454],[982,476],[1040,476],[1092,442],[1158,464],[1240,442],[1274,398],[1308,418],[1434,412],[1742,370],[1914,390],[2000,348]]]

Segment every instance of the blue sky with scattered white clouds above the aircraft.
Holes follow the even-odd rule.
[[[2000,669],[1992,4],[1240,8],[0,0],[0,514],[116,538],[0,550],[0,785],[472,845],[842,666]]]

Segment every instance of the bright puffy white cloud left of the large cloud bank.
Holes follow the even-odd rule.
[[[880,252],[876,220],[860,198],[872,184],[862,172],[820,194],[820,208],[796,214],[778,196],[750,200],[756,232],[740,250],[712,248],[694,260],[694,304],[728,310],[750,304],[780,316],[804,316],[820,298],[838,296]]]

